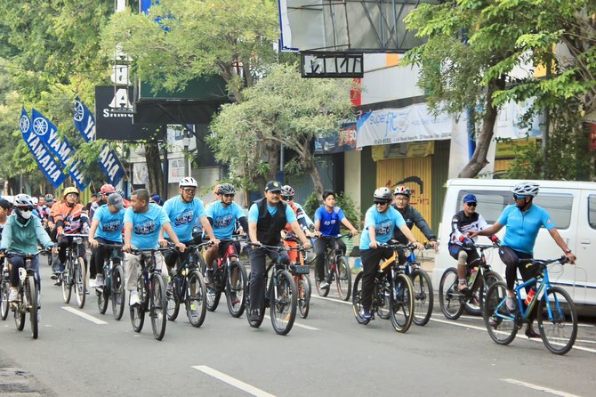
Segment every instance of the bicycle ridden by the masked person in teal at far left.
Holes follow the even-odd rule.
[[[22,256],[25,260],[25,266],[19,268],[19,287],[17,302],[12,303],[12,311],[14,312],[14,322],[17,329],[22,331],[25,328],[25,315],[29,313],[29,321],[31,323],[31,336],[37,339],[39,336],[39,281],[36,280],[36,271],[31,267],[33,258],[36,255],[45,253],[47,250],[42,249],[34,254],[22,254],[16,251],[7,251],[6,256],[13,255]]]

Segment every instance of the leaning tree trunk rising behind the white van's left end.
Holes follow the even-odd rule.
[[[493,139],[497,113],[497,109],[493,106],[493,93],[504,87],[505,83],[503,79],[498,79],[488,84],[486,102],[487,111],[482,119],[482,130],[476,140],[476,150],[474,150],[470,162],[463,167],[462,172],[458,175],[460,178],[473,178],[488,164],[487,153],[490,142]]]

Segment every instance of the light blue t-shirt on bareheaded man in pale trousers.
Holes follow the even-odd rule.
[[[125,223],[133,223],[133,238],[131,243],[139,249],[154,249],[159,247],[159,231],[170,218],[165,215],[164,208],[150,203],[146,213],[135,213],[133,207],[126,208]]]

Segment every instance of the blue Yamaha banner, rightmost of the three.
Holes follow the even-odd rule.
[[[75,99],[74,120],[77,130],[81,133],[85,142],[93,141],[95,139],[95,117],[78,97]],[[113,186],[116,186],[125,176],[125,167],[120,163],[116,152],[111,150],[108,143],[101,148],[98,163],[100,163],[103,174],[106,174],[109,184]]]

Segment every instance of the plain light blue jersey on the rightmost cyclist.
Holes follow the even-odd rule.
[[[534,255],[534,245],[540,227],[547,231],[555,227],[551,215],[543,208],[532,204],[526,213],[522,213],[517,206],[507,206],[496,221],[506,226],[503,246],[516,251]]]

